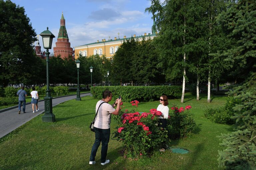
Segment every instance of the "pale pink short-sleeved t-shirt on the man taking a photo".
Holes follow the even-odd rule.
[[[104,101],[100,100],[97,102],[95,114],[102,102]],[[103,103],[99,108],[98,115],[94,122],[94,127],[100,129],[109,129],[111,122],[111,113],[113,113],[114,111],[115,109],[110,104]]]

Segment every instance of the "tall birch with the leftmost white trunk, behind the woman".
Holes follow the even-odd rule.
[[[194,42],[197,38],[195,23],[200,19],[198,2],[194,0],[164,1],[151,0],[147,12],[153,14],[153,20],[159,30],[155,38],[160,54],[160,66],[164,69],[167,81],[182,78],[182,96],[184,101],[186,69],[195,53]]]

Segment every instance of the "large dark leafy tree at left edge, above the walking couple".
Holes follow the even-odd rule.
[[[37,68],[33,42],[36,33],[23,7],[0,0],[0,82],[31,83]]]

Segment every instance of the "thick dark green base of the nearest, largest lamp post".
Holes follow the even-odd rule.
[[[52,97],[44,97],[44,116],[42,116],[43,122],[56,122],[55,115],[52,113]]]

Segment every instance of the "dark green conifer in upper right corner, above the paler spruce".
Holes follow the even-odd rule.
[[[233,46],[220,56],[224,56],[233,68],[230,74],[236,82],[242,82],[250,72],[256,72],[255,1],[239,0],[229,6],[228,11],[218,17],[218,22]]]

